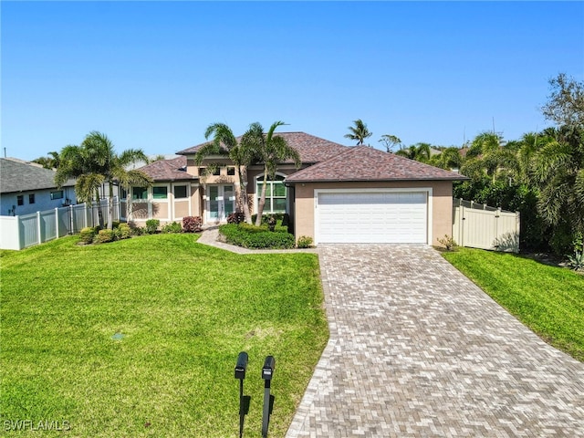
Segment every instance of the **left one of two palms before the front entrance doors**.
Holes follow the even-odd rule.
[[[235,164],[239,179],[239,205],[245,215],[245,222],[252,223],[247,196],[247,167],[253,160],[253,153],[237,142],[233,131],[224,123],[212,123],[204,132],[204,138],[213,136],[213,141],[204,144],[194,156],[194,161],[200,165],[209,155],[227,155]]]

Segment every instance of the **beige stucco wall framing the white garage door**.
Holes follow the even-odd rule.
[[[295,232],[301,235],[314,235],[315,189],[380,189],[380,188],[432,188],[432,245],[439,245],[437,240],[453,233],[453,183],[450,181],[418,181],[396,183],[304,183],[296,184]],[[431,211],[430,211],[431,209]]]

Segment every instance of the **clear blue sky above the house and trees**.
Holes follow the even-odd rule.
[[[0,2],[2,148],[32,160],[91,130],[170,154],[212,122],[351,144],[460,146],[549,123],[584,80],[584,2]],[[4,156],[4,150],[2,151]]]

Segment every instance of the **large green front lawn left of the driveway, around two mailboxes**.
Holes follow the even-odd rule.
[[[318,258],[235,255],[196,239],[67,237],[0,252],[4,433],[6,421],[30,420],[68,422],[76,437],[237,436],[242,350],[245,437],[261,436],[267,355],[269,433],[286,433],[328,339]]]

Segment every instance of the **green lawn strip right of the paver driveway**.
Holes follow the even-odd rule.
[[[584,276],[480,249],[443,256],[539,337],[584,361]]]

